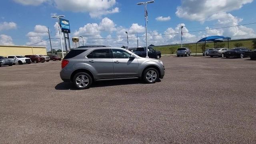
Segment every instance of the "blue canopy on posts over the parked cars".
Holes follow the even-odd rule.
[[[224,37],[224,36],[207,36],[205,38],[202,38],[198,42],[204,42],[204,51],[205,51],[205,46],[206,46],[206,41],[212,41],[214,42],[214,47],[215,47],[215,42],[223,42],[223,40],[226,39],[228,40],[228,48],[229,48],[229,40],[231,39],[230,37]],[[197,43],[196,42],[196,52],[197,52]],[[203,52],[204,56],[204,52]]]

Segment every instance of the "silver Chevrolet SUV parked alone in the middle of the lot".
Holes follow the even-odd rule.
[[[164,70],[162,61],[141,58],[124,48],[85,46],[64,57],[60,78],[73,82],[78,89],[86,89],[97,80],[141,78],[154,83],[164,78]]]

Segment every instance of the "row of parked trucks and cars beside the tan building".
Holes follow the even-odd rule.
[[[57,55],[26,55],[26,56],[0,56],[0,66],[12,66],[14,64],[31,64],[32,62],[49,62],[61,60]]]

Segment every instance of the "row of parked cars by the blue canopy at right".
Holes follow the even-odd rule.
[[[250,57],[251,60],[256,58],[256,50],[251,50],[249,48],[216,48],[213,50],[208,49],[208,55],[210,57],[218,56],[218,57],[236,57],[236,58],[244,58]]]

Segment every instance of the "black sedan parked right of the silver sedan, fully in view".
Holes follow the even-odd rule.
[[[244,58],[249,57],[251,54],[251,51],[249,48],[232,48],[226,52],[224,52],[224,56],[226,58],[229,57],[236,57],[236,58]]]

